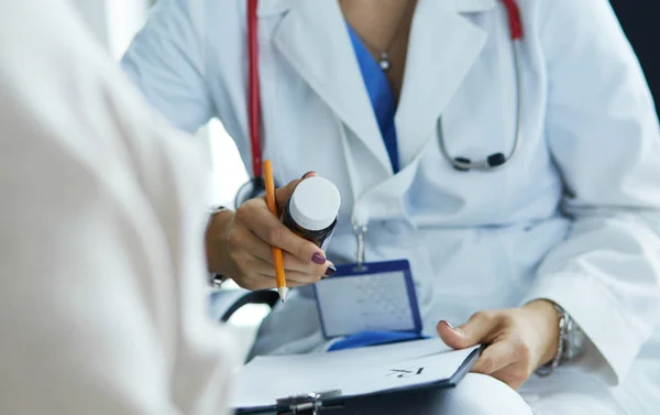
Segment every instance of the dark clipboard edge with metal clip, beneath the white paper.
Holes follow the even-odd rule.
[[[309,391],[298,395],[278,397],[270,405],[258,405],[255,407],[234,407],[234,411],[238,415],[332,415],[338,409],[350,407],[352,402],[362,397],[373,397],[408,391],[451,389],[455,387],[461,382],[461,380],[465,376],[465,374],[470,371],[481,356],[482,350],[483,347],[475,347],[470,350],[468,357],[448,378],[422,381],[400,387],[387,387],[370,393],[359,394],[345,393],[345,391],[342,391],[341,389]],[[430,357],[427,356],[425,358],[428,359]],[[267,380],[266,382],[268,381],[273,380]],[[286,382],[286,375],[283,376],[282,381]]]

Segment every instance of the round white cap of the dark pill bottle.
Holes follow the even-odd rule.
[[[341,196],[327,178],[309,177],[300,182],[289,200],[292,219],[301,228],[323,230],[339,212]]]

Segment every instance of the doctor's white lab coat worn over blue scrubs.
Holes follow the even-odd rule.
[[[219,117],[250,166],[245,3],[160,0],[123,67],[179,128]],[[550,298],[591,339],[591,369],[573,367],[645,414],[660,404],[653,102],[606,0],[519,4],[514,160],[497,172],[457,172],[438,145],[441,117],[454,156],[513,146],[518,89],[505,8],[420,0],[395,119],[404,167],[394,175],[337,1],[260,1],[264,156],[280,184],[314,170],[338,185],[331,260],[354,260],[351,223],[364,217],[367,260],[410,260],[428,334],[441,318]],[[254,352],[323,343],[312,295],[300,290],[262,326]],[[560,392],[581,379],[569,378]],[[552,381],[530,386],[537,381],[547,396]]]

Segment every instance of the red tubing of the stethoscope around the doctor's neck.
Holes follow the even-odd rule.
[[[519,41],[522,39],[522,20],[520,18],[518,2],[517,0],[502,0],[502,2],[508,14],[512,40]],[[250,122],[253,177],[262,176],[257,6],[258,0],[248,0],[248,116]]]

